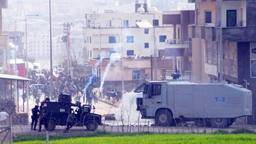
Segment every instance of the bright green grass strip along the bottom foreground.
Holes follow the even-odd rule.
[[[15,143],[45,143],[45,140]],[[51,138],[49,143],[256,143],[255,134],[100,134],[77,138]]]

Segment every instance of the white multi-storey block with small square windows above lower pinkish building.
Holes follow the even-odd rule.
[[[86,14],[88,58],[109,58],[115,51],[124,56],[154,54],[154,29],[157,51],[164,49],[165,39],[172,38],[172,26],[163,25],[163,13],[90,13]],[[156,26],[152,26],[155,17]]]

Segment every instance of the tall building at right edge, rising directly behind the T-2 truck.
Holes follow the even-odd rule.
[[[189,27],[193,81],[228,81],[252,90],[253,116],[249,116],[248,122],[255,124],[255,1],[189,0],[189,3],[195,3],[195,25]],[[239,109],[234,113],[239,113]]]

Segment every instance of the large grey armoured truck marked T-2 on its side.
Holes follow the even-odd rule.
[[[194,121],[223,128],[252,115],[252,92],[237,84],[147,81],[134,92],[143,92],[136,99],[141,118],[154,118],[159,126]]]

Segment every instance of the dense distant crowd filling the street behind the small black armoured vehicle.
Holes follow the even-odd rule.
[[[35,71],[31,71],[29,72],[29,76],[29,79],[32,79],[29,86],[29,99],[32,95],[37,105],[40,104],[42,93],[45,93],[45,97],[49,97],[51,100],[58,99],[60,93],[67,93],[74,100],[90,105],[92,105],[92,102],[96,104],[98,97],[104,99],[104,95],[107,96],[106,100],[108,101],[112,98],[113,103],[122,99],[122,94],[118,88],[111,90],[108,86],[106,90],[102,90],[102,93],[93,91],[94,88],[100,87],[99,77],[93,77],[93,79],[90,79],[90,76],[81,78],[71,77],[68,75],[67,70],[63,70],[63,72],[59,72],[53,76],[53,86],[51,86],[51,74],[49,71],[42,70],[42,74],[40,75],[36,74]],[[90,84],[84,89],[88,83]],[[51,88],[53,89],[52,95]],[[84,90],[86,91],[84,92]]]

